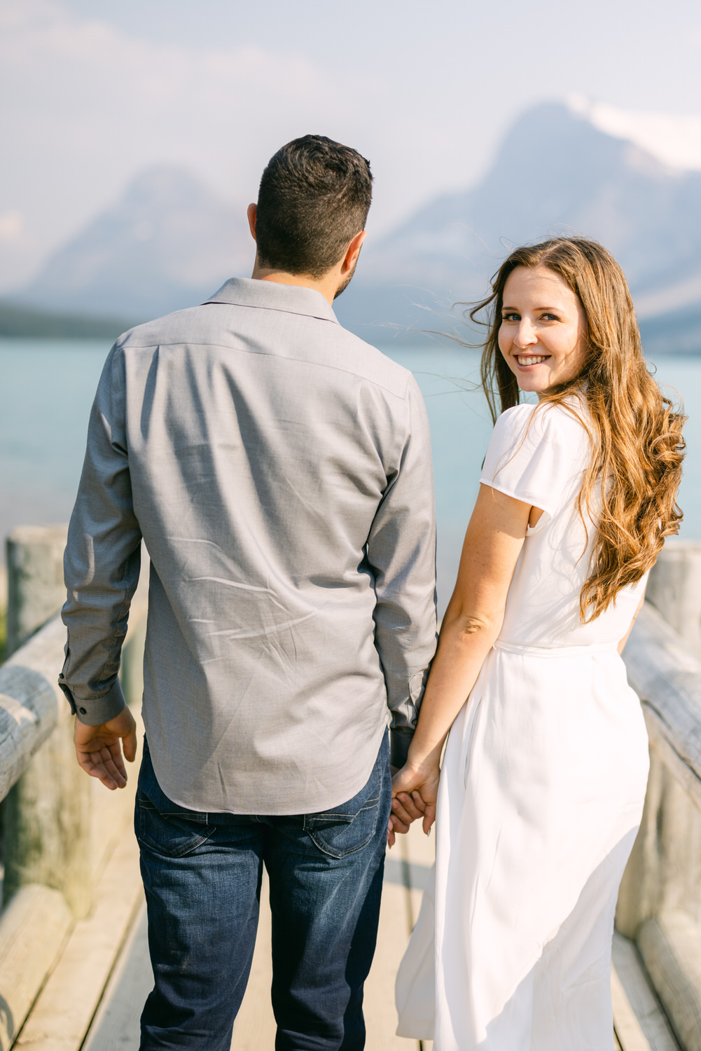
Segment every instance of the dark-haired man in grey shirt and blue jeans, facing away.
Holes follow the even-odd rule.
[[[142,1049],[229,1047],[270,879],[277,1049],[365,1045],[390,815],[435,645],[429,432],[409,372],[341,328],[370,167],[284,146],[250,280],[127,332],[70,522],[61,685],[122,787],[117,673],[150,555],[136,831],[156,988]]]

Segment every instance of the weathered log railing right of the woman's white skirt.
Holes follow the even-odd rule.
[[[647,595],[623,659],[651,771],[616,926],[635,940],[684,1051],[701,1051],[701,544],[669,542]]]

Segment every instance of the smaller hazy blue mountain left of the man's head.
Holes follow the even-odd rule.
[[[252,259],[245,209],[162,165],[135,179],[15,298],[142,321],[202,302],[232,274],[250,273]]]

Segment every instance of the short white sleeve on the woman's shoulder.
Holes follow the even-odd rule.
[[[587,461],[589,437],[573,413],[557,405],[517,405],[497,419],[479,480],[540,508],[540,530],[572,498]]]

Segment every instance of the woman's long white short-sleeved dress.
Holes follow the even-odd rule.
[[[587,456],[566,409],[519,405],[484,460],[480,481],[543,514],[450,731],[434,878],[397,975],[397,1033],[433,1038],[434,1051],[613,1048],[614,910],[647,780],[616,645],[643,581],[580,624]]]

